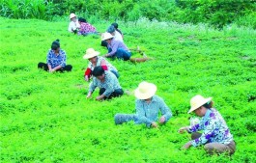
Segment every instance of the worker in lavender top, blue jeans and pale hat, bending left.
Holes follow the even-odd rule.
[[[104,33],[101,36],[101,41],[107,42],[108,53],[104,55],[107,58],[117,57],[120,60],[131,61],[131,62],[145,62],[151,60],[148,57],[143,58],[130,58],[131,52],[128,46],[123,41],[114,40],[114,36],[110,33]]]

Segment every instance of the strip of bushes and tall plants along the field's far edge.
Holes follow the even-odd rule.
[[[134,21],[140,17],[180,23],[209,23],[222,28],[230,23],[256,29],[253,0],[0,0],[0,15],[12,18],[95,16]]]

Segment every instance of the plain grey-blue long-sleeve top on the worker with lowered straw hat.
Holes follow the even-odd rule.
[[[152,97],[150,103],[147,103],[143,99],[136,99],[136,118],[135,123],[146,123],[148,126],[152,122],[157,121],[158,112],[161,112],[161,115],[164,116],[165,122],[169,121],[172,117],[172,112],[170,108],[165,104],[163,99],[157,95]]]

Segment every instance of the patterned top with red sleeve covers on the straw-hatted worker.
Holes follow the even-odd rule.
[[[106,64],[105,67],[102,67],[104,70],[118,71],[117,68],[112,66],[105,58],[100,57],[100,56],[97,57],[96,67],[101,66],[102,61],[105,61],[105,64]],[[94,70],[94,68],[95,68],[94,65],[91,62],[89,62],[88,67],[87,67],[86,71],[84,72],[84,75],[88,75],[88,77],[90,77],[91,72]]]

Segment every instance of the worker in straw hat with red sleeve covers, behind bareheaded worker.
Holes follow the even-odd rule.
[[[86,54],[83,56],[83,59],[88,59],[89,64],[88,68],[84,72],[84,79],[85,81],[89,81],[92,71],[95,67],[101,66],[104,70],[109,70],[112,73],[116,75],[116,77],[119,77],[119,73],[117,68],[113,67],[105,58],[99,56],[100,52],[95,51],[93,48],[88,48],[86,50]]]

